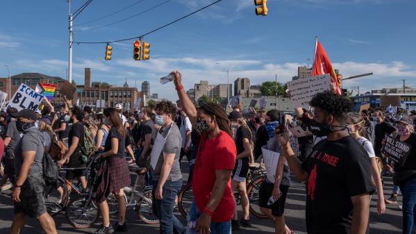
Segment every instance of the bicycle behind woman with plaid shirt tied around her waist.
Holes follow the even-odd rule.
[[[92,167],[94,172],[98,172],[97,164]],[[124,199],[126,199],[126,207],[133,207],[138,213],[138,216],[146,224],[158,224],[159,220],[153,215],[152,210],[152,191],[149,187],[144,187],[137,191],[135,187],[138,185],[139,176],[146,174],[147,169],[139,168],[134,170],[136,175],[135,183],[132,187],[124,187]],[[97,173],[95,173],[97,175]],[[89,184],[95,185],[97,183],[97,176],[90,178]],[[127,197],[128,195],[128,197]],[[110,206],[113,206],[113,212],[118,210],[117,199],[114,195],[107,199]],[[69,202],[65,211],[67,222],[74,228],[89,228],[95,224],[99,219],[99,204],[93,199],[93,192],[90,190],[88,194],[77,197]]]

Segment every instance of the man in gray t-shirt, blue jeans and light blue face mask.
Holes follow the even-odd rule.
[[[160,234],[170,234],[173,230],[185,233],[185,227],[174,216],[176,195],[182,187],[182,172],[179,157],[181,154],[181,132],[174,122],[176,106],[170,101],[156,104],[155,122],[160,126],[156,141],[163,137],[163,146],[153,147],[151,156],[158,157],[156,167],[152,169],[153,213],[160,220]],[[160,149],[157,151],[157,149]],[[155,152],[153,152],[155,151]]]

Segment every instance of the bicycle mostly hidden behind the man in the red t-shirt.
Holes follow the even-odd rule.
[[[247,176],[247,196],[249,197],[250,212],[254,216],[260,219],[266,219],[267,216],[260,211],[258,206],[258,191],[260,185],[266,178],[266,171],[260,164],[250,165],[250,171]],[[237,203],[240,203],[240,194],[234,193],[234,197]],[[192,186],[190,183],[184,185],[178,194],[178,210],[183,217],[188,215],[194,195],[192,193]]]

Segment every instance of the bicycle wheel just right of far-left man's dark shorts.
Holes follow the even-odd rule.
[[[47,212],[51,216],[58,215],[68,204],[69,192],[67,186],[61,181],[50,184],[45,187],[44,201]]]

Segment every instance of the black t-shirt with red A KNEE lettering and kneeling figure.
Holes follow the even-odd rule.
[[[308,172],[308,234],[350,233],[351,197],[374,192],[367,152],[351,136],[319,142],[303,162]]]

